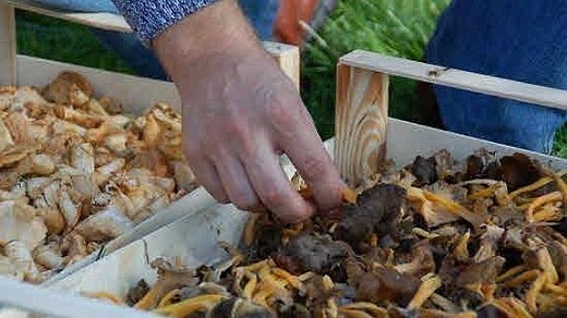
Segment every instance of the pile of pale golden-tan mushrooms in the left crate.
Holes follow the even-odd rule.
[[[39,283],[192,191],[181,120],[128,115],[72,72],[0,87],[0,274]]]

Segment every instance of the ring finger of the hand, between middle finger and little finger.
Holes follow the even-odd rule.
[[[226,155],[213,160],[230,201],[241,210],[252,210],[256,207],[258,199],[238,157]]]

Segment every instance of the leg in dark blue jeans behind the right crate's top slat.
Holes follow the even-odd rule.
[[[439,19],[426,61],[567,88],[567,1],[454,0]],[[435,87],[444,125],[454,132],[541,152],[552,150],[566,112]]]

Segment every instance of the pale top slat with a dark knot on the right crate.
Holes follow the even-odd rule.
[[[422,82],[567,110],[567,90],[447,69],[362,50],[348,53],[340,59],[340,63]]]

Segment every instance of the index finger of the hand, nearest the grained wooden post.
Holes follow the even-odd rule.
[[[339,206],[341,191],[347,185],[340,180],[309,113],[299,112],[289,125],[284,134],[276,135],[278,145],[311,186],[319,209],[326,211]]]

